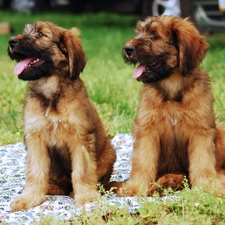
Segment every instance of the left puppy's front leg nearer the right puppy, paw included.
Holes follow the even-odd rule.
[[[95,201],[100,196],[97,191],[95,154],[79,144],[76,148],[70,148],[70,151],[74,201],[77,205]]]

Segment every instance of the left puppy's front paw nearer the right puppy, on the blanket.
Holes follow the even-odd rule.
[[[84,205],[85,203],[94,202],[99,198],[100,194],[97,191],[91,191],[85,194],[84,193],[76,194],[74,201],[76,205],[80,206]]]

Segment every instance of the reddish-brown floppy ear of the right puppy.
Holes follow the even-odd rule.
[[[180,72],[185,76],[199,65],[209,45],[188,18],[175,18],[172,23],[172,32],[179,50]]]

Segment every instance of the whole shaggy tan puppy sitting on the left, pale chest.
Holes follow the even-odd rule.
[[[80,205],[98,197],[98,181],[108,184],[116,153],[79,78],[86,60],[78,35],[40,21],[9,40],[9,56],[20,61],[14,73],[28,81],[26,186],[13,211],[71,191]]]

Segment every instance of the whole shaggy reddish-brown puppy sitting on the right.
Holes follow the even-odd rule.
[[[225,194],[225,131],[216,126],[210,79],[199,68],[208,44],[187,20],[148,17],[125,43],[123,57],[139,64],[133,77],[143,82],[133,124],[130,180],[114,184],[118,194],[151,195],[182,186],[184,175],[198,186],[212,178],[210,191]],[[162,177],[163,176],[163,177]]]

